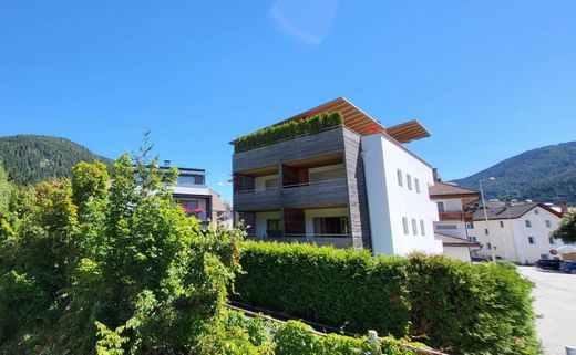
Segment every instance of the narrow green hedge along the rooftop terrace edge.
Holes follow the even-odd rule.
[[[331,112],[307,117],[299,121],[290,121],[281,125],[266,127],[234,140],[234,152],[245,152],[267,146],[280,140],[315,134],[322,129],[340,126],[343,117],[340,112]]]

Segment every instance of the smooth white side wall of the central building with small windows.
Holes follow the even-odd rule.
[[[442,253],[442,242],[434,239],[433,222],[438,221],[436,203],[429,198],[433,184],[432,168],[383,134],[362,137],[362,156],[367,182],[372,250],[374,253],[405,255],[411,252]],[[402,175],[399,186],[398,169]],[[412,179],[410,190],[407,174]],[[415,189],[419,180],[420,192]],[[404,233],[402,218],[409,223]],[[412,230],[416,219],[418,232]],[[425,236],[422,236],[421,223]]]

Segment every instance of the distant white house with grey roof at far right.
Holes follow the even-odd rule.
[[[490,259],[492,250],[496,258],[516,263],[534,263],[538,259],[554,258],[551,250],[564,246],[562,240],[551,238],[562,213],[545,203],[536,202],[486,202],[488,223],[480,202],[466,206],[474,213],[467,223],[467,233],[474,241],[484,244],[477,255]],[[491,241],[492,236],[492,241]]]

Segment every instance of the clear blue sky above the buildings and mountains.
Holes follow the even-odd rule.
[[[576,139],[576,1],[0,0],[0,136],[208,170],[235,137],[337,96],[445,179]]]

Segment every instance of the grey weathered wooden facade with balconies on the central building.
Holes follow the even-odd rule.
[[[282,238],[279,240],[353,247],[357,250],[370,248],[360,138],[352,129],[340,126],[234,154],[234,209],[237,218],[255,226],[256,212],[280,211]],[[346,178],[308,180],[309,168],[341,163]],[[255,177],[270,173],[278,174],[278,187],[255,189]],[[349,237],[302,238],[306,233],[305,210],[339,207],[349,210]]]

